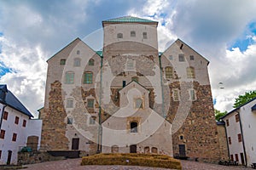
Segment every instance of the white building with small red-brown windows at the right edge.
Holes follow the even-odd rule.
[[[256,98],[222,117],[230,160],[250,166],[256,162]]]

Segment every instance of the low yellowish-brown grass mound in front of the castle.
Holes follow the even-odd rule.
[[[97,154],[85,156],[81,165],[126,165],[182,169],[179,160],[156,154]]]

